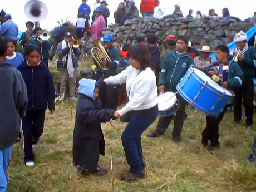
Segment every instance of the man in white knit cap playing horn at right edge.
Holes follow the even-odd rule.
[[[234,56],[238,55],[237,62],[244,74],[242,86],[234,90],[234,121],[238,124],[241,121],[241,107],[243,100],[245,116],[247,117],[246,126],[248,129],[251,129],[253,127],[253,77],[255,75],[254,70],[256,67],[256,50],[253,47],[248,46],[247,35],[243,31],[235,35],[234,41],[237,42]]]

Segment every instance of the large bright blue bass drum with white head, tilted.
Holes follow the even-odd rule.
[[[233,94],[208,75],[191,66],[177,85],[181,97],[206,115],[218,116]]]

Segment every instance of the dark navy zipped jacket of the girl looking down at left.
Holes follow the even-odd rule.
[[[21,72],[27,87],[27,111],[47,109],[47,104],[50,110],[55,109],[53,78],[45,63],[41,61],[38,66],[32,67],[24,61],[17,69]]]

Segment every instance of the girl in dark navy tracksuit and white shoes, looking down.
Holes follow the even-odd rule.
[[[27,45],[24,61],[18,70],[27,87],[28,106],[26,117],[22,119],[24,135],[24,163],[35,165],[32,145],[36,144],[43,133],[45,110],[55,111],[55,89],[49,68],[41,61],[41,50],[36,45]]]

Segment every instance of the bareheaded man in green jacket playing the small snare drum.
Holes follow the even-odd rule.
[[[193,58],[186,52],[188,47],[188,37],[179,36],[176,42],[177,51],[169,53],[164,59],[164,66],[160,73],[160,91],[176,92],[176,85],[185,75],[191,65],[194,65]],[[179,108],[176,115],[160,116],[156,129],[148,134],[148,137],[159,137],[164,134],[165,130],[174,119],[174,129],[172,140],[179,142],[183,129],[186,101],[178,96]]]

